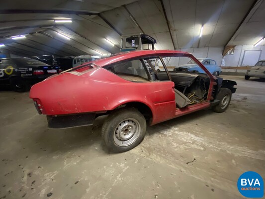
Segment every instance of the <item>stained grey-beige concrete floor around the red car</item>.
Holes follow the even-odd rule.
[[[265,177],[265,81],[224,78],[238,83],[227,111],[148,127],[144,141],[122,154],[103,145],[104,117],[93,126],[48,129],[28,93],[0,91],[0,198],[243,198],[236,186],[242,173]]]

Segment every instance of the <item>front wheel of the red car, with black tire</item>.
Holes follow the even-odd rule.
[[[215,98],[216,100],[220,100],[220,103],[218,105],[212,106],[212,110],[214,112],[224,112],[228,108],[231,98],[231,90],[227,88],[221,88]]]

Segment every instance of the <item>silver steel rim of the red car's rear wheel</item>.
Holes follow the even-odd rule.
[[[141,126],[136,119],[124,119],[115,128],[113,139],[118,146],[129,146],[137,140],[140,132]]]

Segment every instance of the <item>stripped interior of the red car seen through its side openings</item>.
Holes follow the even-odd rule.
[[[154,59],[132,60],[105,67],[105,69],[131,82],[171,81],[175,84],[175,100],[178,108],[206,100],[209,78],[206,74],[165,72],[155,70]],[[145,65],[145,66],[144,66]],[[147,75],[149,69],[151,80]]]

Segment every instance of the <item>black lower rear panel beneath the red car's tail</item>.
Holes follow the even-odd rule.
[[[72,128],[93,125],[95,113],[82,113],[75,115],[47,115],[49,128]]]

